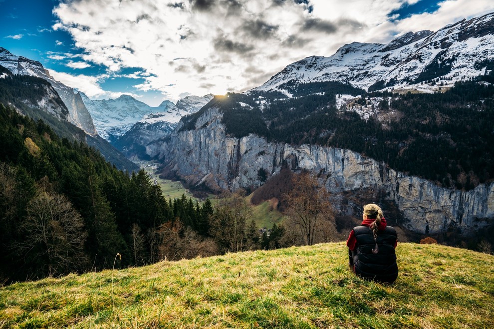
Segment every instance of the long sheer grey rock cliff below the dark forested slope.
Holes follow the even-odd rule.
[[[494,183],[462,192],[396,172],[349,150],[291,146],[252,134],[231,138],[221,118],[217,108],[209,108],[198,118],[195,129],[180,131],[180,123],[168,139],[149,144],[146,152],[189,183],[205,183],[214,189],[259,186],[260,168],[276,175],[284,162],[294,171],[307,169],[318,174],[331,192],[380,189],[386,199],[396,202],[404,225],[421,233],[439,233],[451,227],[467,232],[489,225],[494,217]]]

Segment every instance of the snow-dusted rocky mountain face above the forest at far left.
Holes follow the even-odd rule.
[[[13,74],[32,75],[47,80],[55,88],[65,106],[67,106],[69,122],[88,134],[96,134],[91,115],[84,106],[80,95],[73,88],[56,81],[40,62],[22,56],[15,56],[5,48],[0,47],[0,65],[6,67]]]

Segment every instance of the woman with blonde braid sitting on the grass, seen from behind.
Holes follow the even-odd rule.
[[[383,211],[373,203],[364,206],[364,221],[350,232],[346,245],[350,267],[367,280],[393,283],[398,277],[396,231],[386,225]]]

